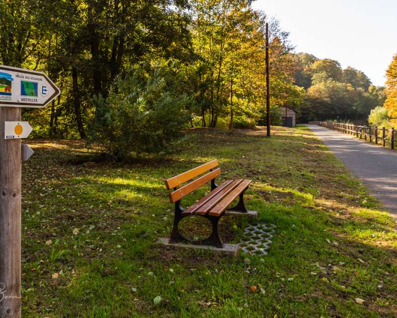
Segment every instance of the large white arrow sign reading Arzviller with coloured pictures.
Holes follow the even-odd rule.
[[[42,72],[0,65],[0,106],[43,108],[59,94]]]

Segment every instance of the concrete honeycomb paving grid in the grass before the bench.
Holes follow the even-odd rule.
[[[250,225],[244,230],[240,241],[242,252],[256,255],[268,255],[276,225],[257,224]]]

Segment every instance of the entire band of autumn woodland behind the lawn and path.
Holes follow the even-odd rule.
[[[383,87],[336,60],[295,53],[288,30],[251,5],[249,0],[4,1],[0,62],[43,71],[61,90],[49,107],[23,110],[36,136],[108,143],[122,137],[127,124],[146,150],[155,150],[166,142],[159,135],[172,138],[182,128],[264,122],[269,23],[272,124],[281,124],[281,106],[297,110],[300,122],[366,121],[376,107],[389,119]]]

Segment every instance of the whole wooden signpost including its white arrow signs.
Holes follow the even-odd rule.
[[[0,65],[0,318],[21,317],[21,138],[32,131],[21,108],[42,108],[60,94],[42,72]]]

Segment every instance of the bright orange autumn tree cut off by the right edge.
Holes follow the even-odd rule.
[[[393,124],[397,124],[397,54],[386,70],[386,100],[384,107],[389,111],[388,115],[391,117]]]

